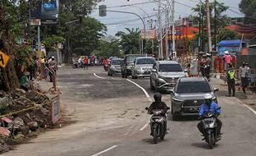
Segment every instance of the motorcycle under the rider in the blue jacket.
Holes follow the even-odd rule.
[[[216,145],[216,142],[220,140],[217,134],[218,131],[216,117],[217,114],[215,112],[208,112],[201,117],[201,121],[204,127],[204,139],[202,140],[206,140],[206,143],[208,143],[210,149],[213,149],[213,146]]]

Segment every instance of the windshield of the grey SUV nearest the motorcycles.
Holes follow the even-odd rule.
[[[211,92],[210,85],[206,81],[180,82],[177,86],[177,93],[207,93]]]

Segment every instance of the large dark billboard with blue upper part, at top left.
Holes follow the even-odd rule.
[[[59,0],[42,0],[40,21],[42,25],[59,24]]]

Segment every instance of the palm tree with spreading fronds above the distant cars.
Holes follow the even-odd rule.
[[[139,28],[131,30],[126,28],[128,33],[123,31],[118,31],[116,33],[117,37],[120,37],[120,45],[124,49],[125,54],[140,53],[140,31]]]

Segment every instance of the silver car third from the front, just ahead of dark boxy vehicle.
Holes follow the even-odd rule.
[[[150,72],[155,63],[154,57],[137,57],[131,69],[133,79],[150,76]]]

